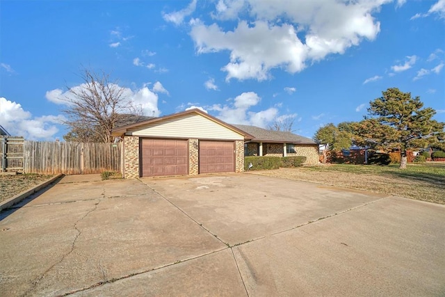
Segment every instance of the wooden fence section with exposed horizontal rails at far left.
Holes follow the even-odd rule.
[[[22,137],[0,136],[0,172],[23,170]]]

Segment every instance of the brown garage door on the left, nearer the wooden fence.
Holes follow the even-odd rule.
[[[142,177],[188,174],[188,141],[146,139],[141,144]]]

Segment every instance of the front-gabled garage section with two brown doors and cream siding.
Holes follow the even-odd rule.
[[[112,135],[123,140],[126,178],[241,172],[244,142],[252,139],[200,109],[116,127]]]

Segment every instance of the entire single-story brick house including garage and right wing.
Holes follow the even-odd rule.
[[[242,172],[245,155],[307,156],[307,163],[318,163],[318,144],[309,138],[230,125],[200,109],[130,122],[121,120],[112,131],[123,142],[125,178]]]

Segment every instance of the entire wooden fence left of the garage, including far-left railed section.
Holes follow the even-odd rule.
[[[1,172],[65,175],[120,171],[121,143],[70,143],[0,138]]]

